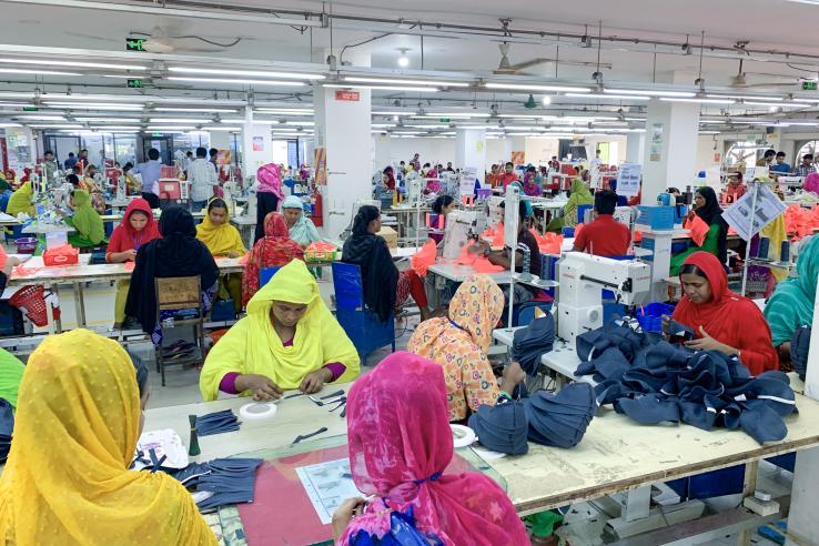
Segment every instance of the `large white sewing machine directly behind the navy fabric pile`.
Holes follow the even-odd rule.
[[[557,334],[573,345],[579,334],[603,326],[603,290],[628,306],[645,303],[651,290],[651,270],[637,260],[567,252],[557,266]]]

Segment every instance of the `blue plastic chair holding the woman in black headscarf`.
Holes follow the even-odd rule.
[[[391,314],[386,322],[381,322],[366,307],[361,267],[343,262],[333,262],[332,267],[335,316],[355,345],[362,364],[366,365],[370,353],[385,345],[392,345],[395,352],[395,316]]]

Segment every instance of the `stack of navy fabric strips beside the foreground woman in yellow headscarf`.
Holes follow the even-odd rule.
[[[256,468],[261,458],[214,458],[208,463],[191,463],[171,475],[185,487],[212,495],[196,503],[200,512],[220,506],[252,503]]]

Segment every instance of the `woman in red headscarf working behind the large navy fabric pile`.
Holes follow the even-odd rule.
[[[779,368],[770,327],[759,307],[728,290],[728,277],[714,254],[695,252],[679,270],[685,295],[671,318],[695,332],[686,346],[738,355],[751,374]]]

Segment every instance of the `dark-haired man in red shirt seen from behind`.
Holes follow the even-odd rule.
[[[624,256],[631,244],[631,232],[614,219],[617,194],[603,190],[595,194],[595,220],[583,226],[574,250],[596,256]]]

